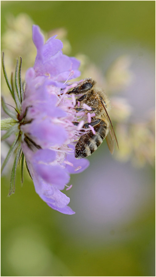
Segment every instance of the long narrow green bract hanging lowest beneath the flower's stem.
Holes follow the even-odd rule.
[[[12,172],[11,172],[10,189],[9,189],[8,196],[10,196],[12,193],[15,192],[15,176],[16,176],[16,169],[17,169],[20,153],[21,153],[21,145],[18,146],[16,156],[15,156],[15,159],[14,159],[14,165],[13,165],[13,169],[12,169]]]

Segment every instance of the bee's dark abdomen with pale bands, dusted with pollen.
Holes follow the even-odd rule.
[[[82,135],[75,146],[75,157],[81,159],[90,156],[103,142],[106,137],[107,123],[103,120],[94,126],[96,134],[92,131]]]

